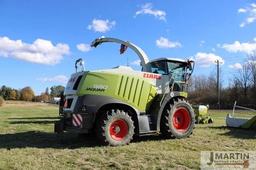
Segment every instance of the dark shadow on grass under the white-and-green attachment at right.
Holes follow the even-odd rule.
[[[213,129],[219,130],[229,130],[228,132],[220,133],[223,136],[230,136],[234,138],[241,138],[241,139],[256,139],[256,130],[255,129],[245,129],[245,128],[235,128],[235,127],[209,127]]]

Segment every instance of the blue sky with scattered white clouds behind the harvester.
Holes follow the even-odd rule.
[[[88,48],[100,36],[129,40],[149,59],[193,57],[195,75],[209,75],[219,59],[228,78],[256,52],[256,1],[0,0],[0,85],[36,94],[65,86],[78,58],[86,70],[127,65],[127,58],[141,69],[131,49]]]

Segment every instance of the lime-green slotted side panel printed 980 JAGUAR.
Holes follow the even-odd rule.
[[[76,91],[78,97],[102,95],[131,105],[138,111],[148,111],[156,96],[152,81],[143,77],[108,72],[85,72]]]

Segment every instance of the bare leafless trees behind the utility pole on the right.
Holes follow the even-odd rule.
[[[256,109],[256,55],[248,55],[242,63],[236,64],[234,71],[220,70],[219,84],[220,109],[232,109],[235,101],[239,106]],[[210,109],[218,109],[217,73],[191,77],[188,99],[193,105],[209,104]]]

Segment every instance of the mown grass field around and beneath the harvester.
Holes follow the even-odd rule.
[[[58,107],[28,105],[0,107],[0,169],[200,169],[200,151],[256,150],[256,131],[226,127],[227,112],[210,111],[214,123],[196,125],[190,138],[135,137],[111,147],[94,137],[55,134]]]

